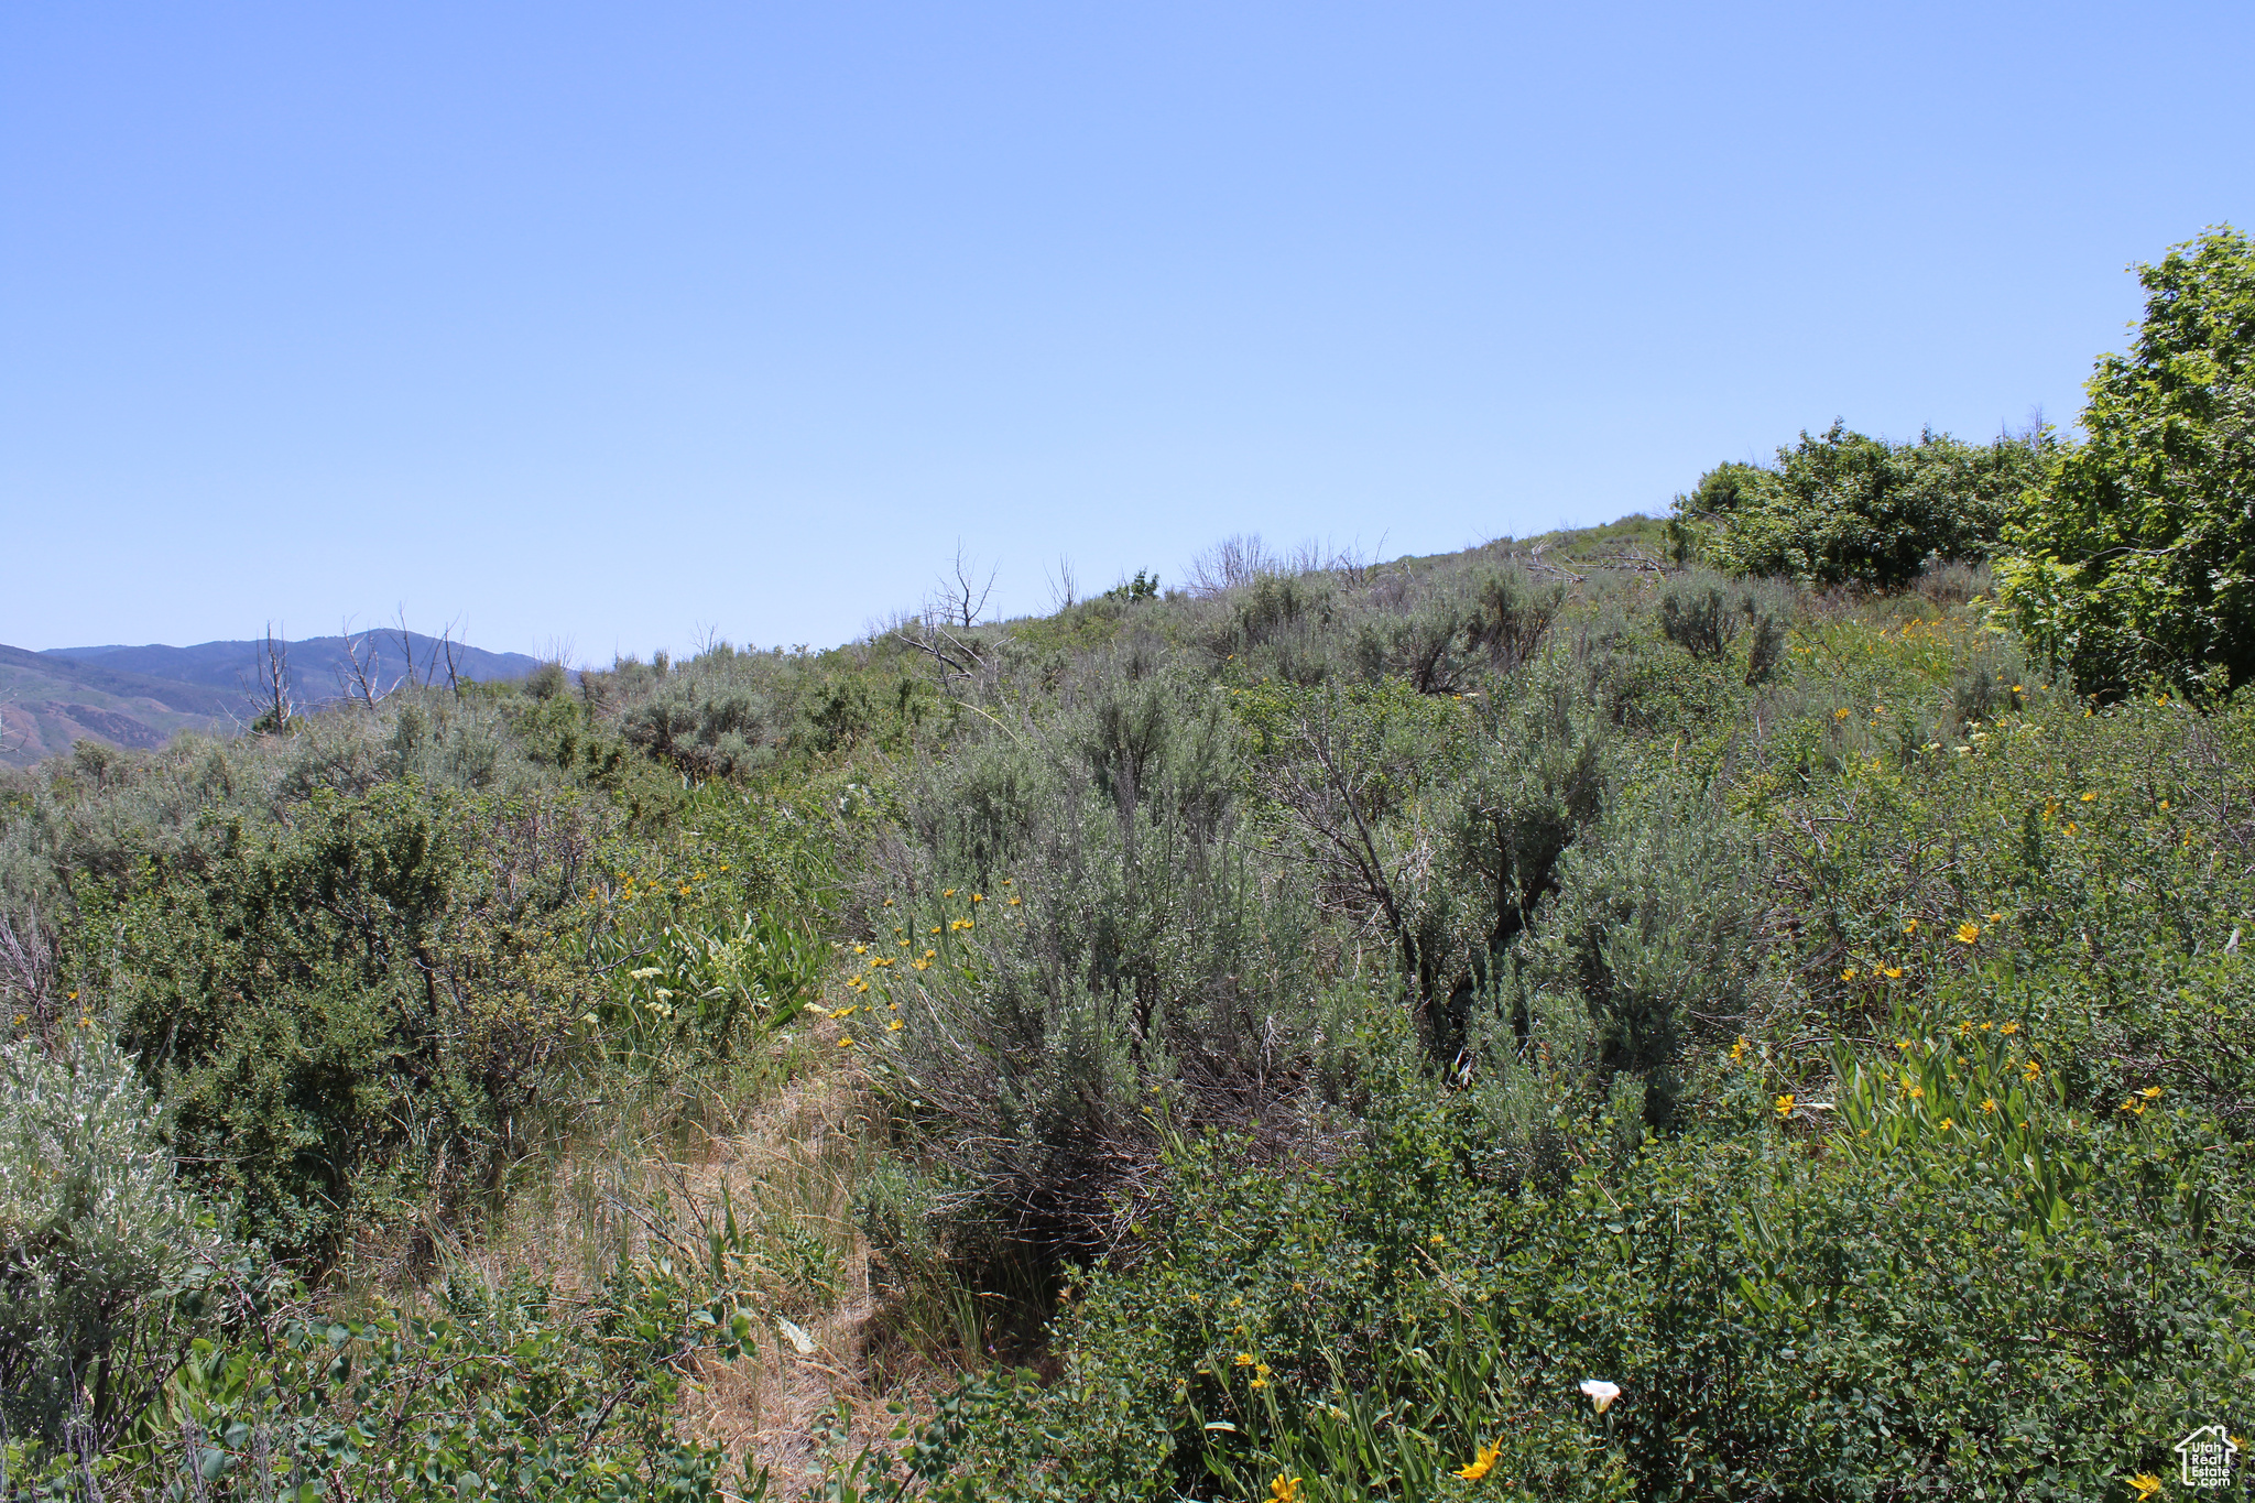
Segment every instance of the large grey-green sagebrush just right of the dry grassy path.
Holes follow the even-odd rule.
[[[956,1255],[1094,1255],[1155,1160],[1146,1106],[1290,1095],[1306,917],[1249,863],[1233,764],[1213,692],[1114,660],[909,798],[850,1037],[945,1167]]]

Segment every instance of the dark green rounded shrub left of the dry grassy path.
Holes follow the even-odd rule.
[[[539,879],[485,829],[539,852]],[[291,827],[237,818],[196,865],[79,886],[88,985],[246,1235],[318,1264],[501,1183],[586,1010],[546,940],[586,834],[568,807],[381,782],[320,791]]]

